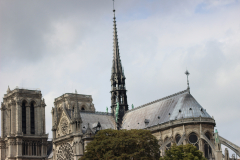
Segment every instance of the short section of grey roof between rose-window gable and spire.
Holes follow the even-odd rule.
[[[83,133],[86,132],[88,123],[92,131],[94,131],[94,127],[96,124],[100,122],[102,129],[115,129],[115,121],[111,113],[105,112],[80,112],[82,118],[82,131]]]

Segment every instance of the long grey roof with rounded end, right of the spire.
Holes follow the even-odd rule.
[[[123,117],[123,129],[143,129],[190,117],[211,116],[202,108],[188,90],[153,101],[129,110]]]

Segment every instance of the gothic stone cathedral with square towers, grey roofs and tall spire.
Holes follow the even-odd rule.
[[[161,155],[173,143],[190,143],[207,159],[222,160],[221,145],[240,156],[239,146],[214,131],[214,118],[190,93],[189,83],[186,90],[129,109],[113,12],[111,112],[96,111],[91,95],[65,93],[54,99],[53,139],[48,141],[41,91],[8,87],[1,103],[1,160],[78,160],[94,135],[109,128],[149,130],[159,142]],[[224,159],[228,157],[225,150]]]

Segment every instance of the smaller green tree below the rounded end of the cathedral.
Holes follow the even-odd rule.
[[[177,146],[174,144],[166,155],[159,160],[207,160],[204,158],[203,153],[192,144]]]

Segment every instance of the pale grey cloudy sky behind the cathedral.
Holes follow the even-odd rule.
[[[240,1],[116,0],[129,105],[187,88],[240,145]],[[0,0],[0,95],[40,89],[51,133],[54,98],[76,89],[110,106],[111,0]]]

